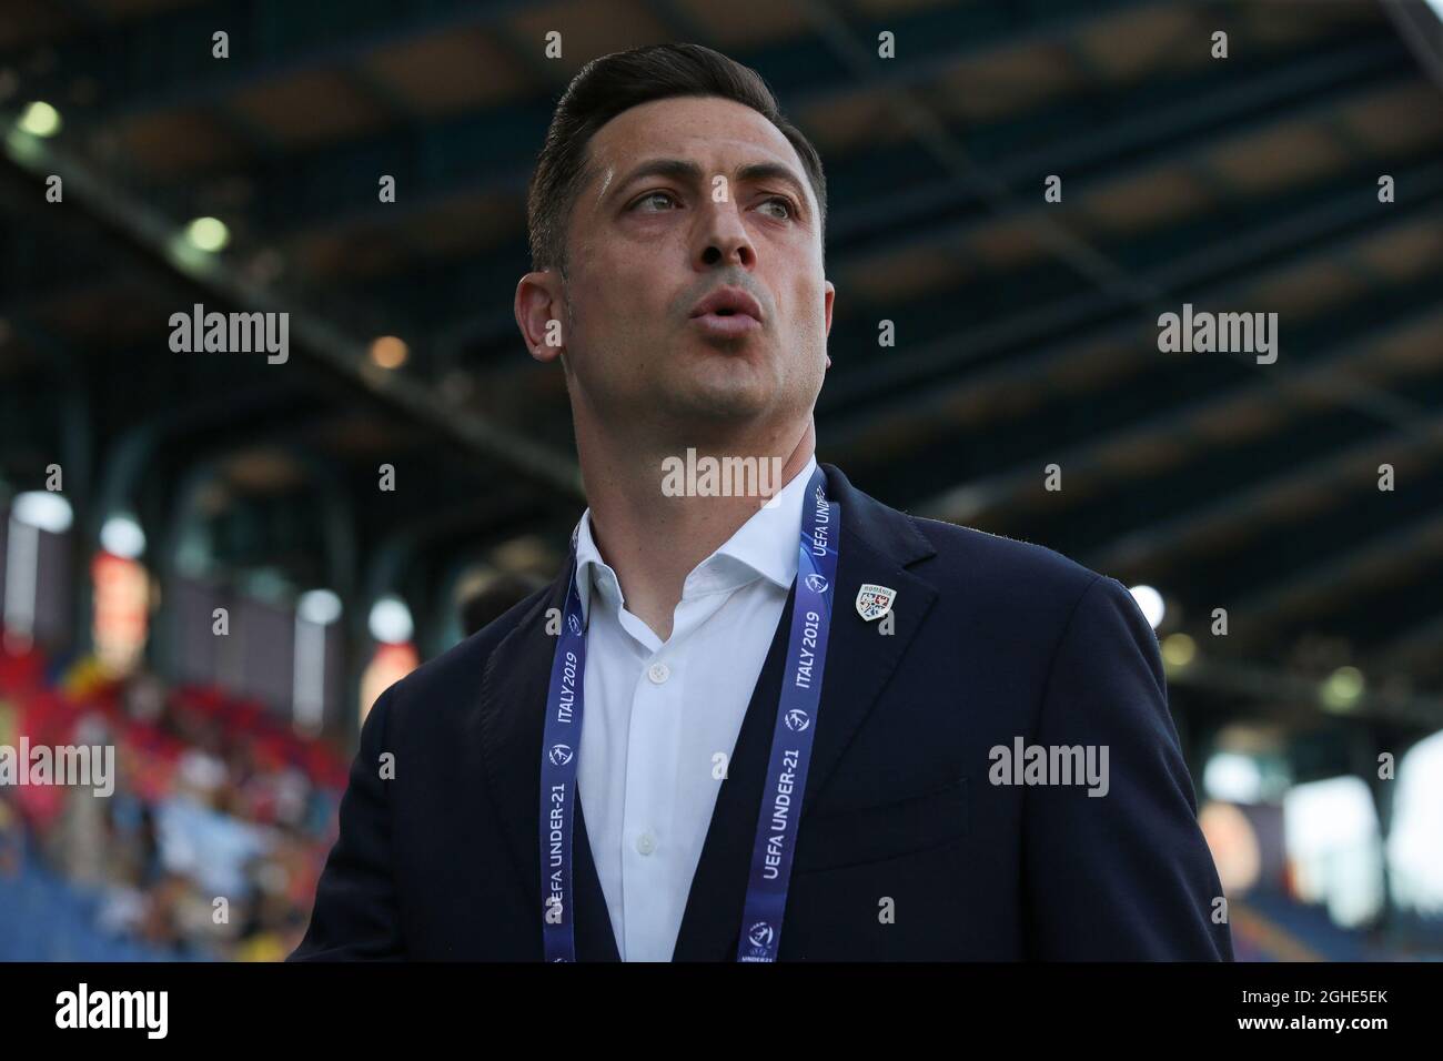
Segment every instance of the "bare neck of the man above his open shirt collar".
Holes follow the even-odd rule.
[[[815,427],[804,424],[762,432],[734,443],[694,446],[696,458],[756,458],[769,494],[791,482],[812,456]],[[685,462],[687,446],[646,446],[635,437],[587,433],[577,424],[582,479],[592,508],[592,536],[626,595],[626,611],[662,641],[681,590],[698,563],[756,514],[766,497],[698,497],[664,491],[668,459]],[[771,471],[781,463],[781,475]]]

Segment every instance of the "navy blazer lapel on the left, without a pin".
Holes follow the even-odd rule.
[[[481,683],[482,765],[501,817],[517,879],[535,917],[535,960],[541,960],[541,739],[556,638],[545,631],[550,608],[566,602],[569,566],[492,652]],[[571,902],[577,961],[618,961],[616,937],[592,857],[582,800],[571,837]]]

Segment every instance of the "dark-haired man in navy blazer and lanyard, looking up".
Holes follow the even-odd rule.
[[[760,78],[587,65],[528,212],[590,508],[377,702],[293,957],[1231,960],[1128,592],[817,465],[825,183]]]

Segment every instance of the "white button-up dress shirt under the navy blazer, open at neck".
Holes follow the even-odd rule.
[[[592,510],[582,514],[576,582],[589,626],[577,798],[622,961],[671,960],[724,765],[797,577],[815,468],[812,456],[773,507],[693,569],[665,642],[626,611],[592,538]]]

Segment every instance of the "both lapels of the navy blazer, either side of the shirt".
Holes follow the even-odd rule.
[[[835,465],[821,466],[827,473],[827,495],[841,507],[841,551],[817,733],[802,794],[802,831],[808,808],[815,804],[817,794],[825,788],[851,738],[872,713],[877,696],[937,599],[932,585],[908,570],[937,551],[912,520],[856,489]],[[547,612],[564,605],[567,567],[563,567],[550,592],[492,650],[481,683],[478,729],[486,784],[494,797],[492,805],[501,816],[514,870],[535,911],[538,960],[543,915],[540,759],[547,683],[556,648],[554,637],[547,632]],[[895,629],[889,637],[880,637],[876,624],[863,621],[850,606],[867,582],[898,592]],[[675,961],[729,961],[736,957],[794,602],[795,585],[788,592],[766,661],[752,690],[727,777],[717,793],[672,956]],[[592,859],[580,800],[577,804],[573,837],[577,960],[616,961],[610,915]],[[785,946],[785,922],[782,933]]]

